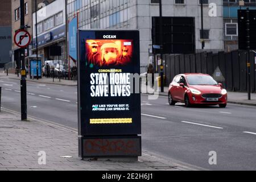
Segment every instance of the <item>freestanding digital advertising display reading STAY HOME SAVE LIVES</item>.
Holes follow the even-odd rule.
[[[139,31],[80,30],[77,36],[79,156],[137,159],[141,156]]]

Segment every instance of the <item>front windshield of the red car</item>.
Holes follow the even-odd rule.
[[[189,85],[217,85],[217,82],[207,75],[192,75],[187,76]]]

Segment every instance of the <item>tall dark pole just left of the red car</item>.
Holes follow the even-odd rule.
[[[160,19],[160,83],[161,92],[164,92],[164,73],[163,73],[163,19],[162,19],[162,0],[159,1],[159,19]]]

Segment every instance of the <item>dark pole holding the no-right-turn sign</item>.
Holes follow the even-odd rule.
[[[24,0],[20,0],[20,29],[25,28],[24,22]],[[27,120],[27,82],[25,67],[25,48],[20,49],[20,60],[22,61],[21,80],[20,80],[20,103],[21,103],[21,120]]]

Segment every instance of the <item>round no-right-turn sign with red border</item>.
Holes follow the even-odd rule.
[[[16,46],[20,48],[27,47],[31,42],[31,36],[30,33],[28,33],[26,30],[18,30],[14,35],[14,43]]]

